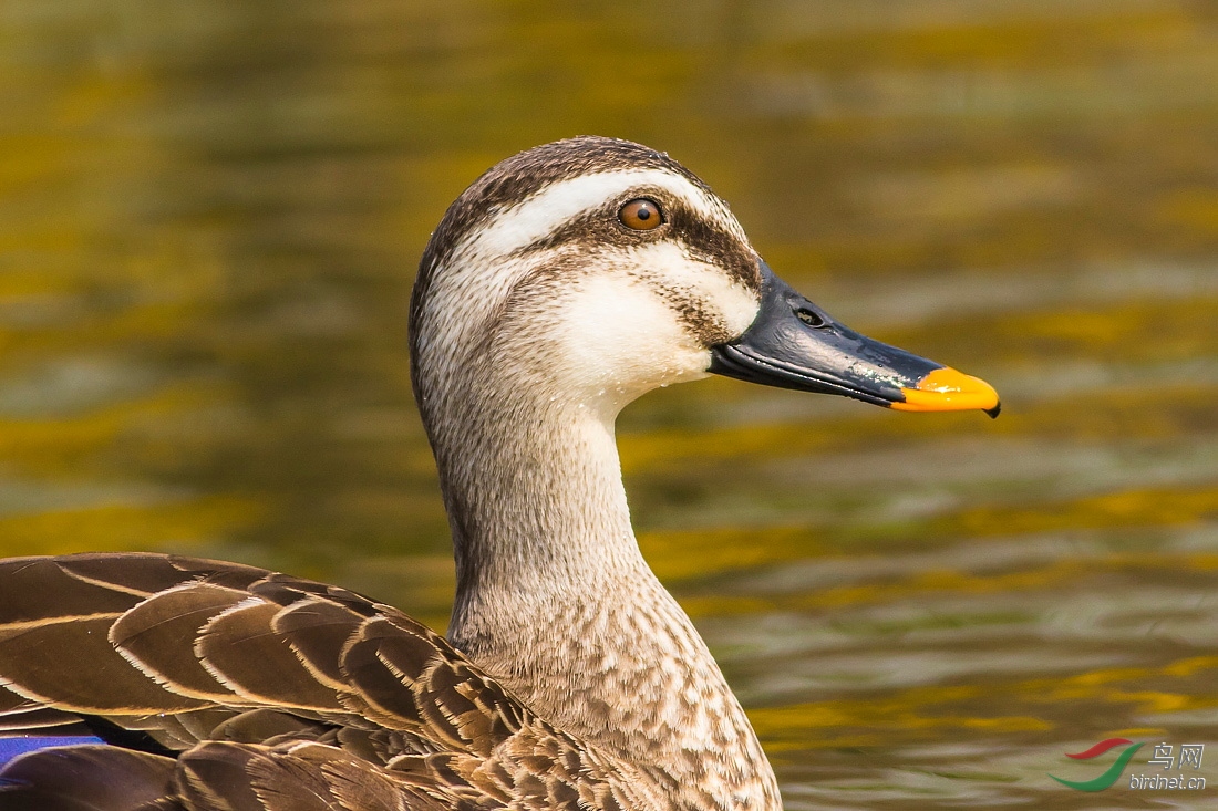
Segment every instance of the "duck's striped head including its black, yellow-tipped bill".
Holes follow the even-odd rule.
[[[425,416],[485,385],[611,418],[711,373],[901,410],[999,408],[988,384],[836,321],[706,184],[607,138],[527,150],[466,189],[424,253],[410,332]]]

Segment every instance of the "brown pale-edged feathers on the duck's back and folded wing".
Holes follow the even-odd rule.
[[[100,720],[164,753],[27,755],[0,772],[5,811],[663,806],[652,776],[341,588],[166,555],[27,558],[0,564],[0,616],[6,729]]]

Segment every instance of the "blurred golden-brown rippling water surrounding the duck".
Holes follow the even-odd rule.
[[[1208,0],[6,0],[0,553],[236,559],[443,628],[414,267],[484,169],[582,133],[1004,396],[622,415],[644,553],[787,807],[1218,801]],[[1212,788],[1046,777],[1113,736],[1209,743]]]

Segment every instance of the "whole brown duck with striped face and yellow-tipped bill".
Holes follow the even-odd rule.
[[[602,136],[457,197],[409,346],[456,559],[447,636],[234,563],[0,561],[0,809],[776,811],[744,710],[639,552],[618,413],[711,374],[999,410],[782,281],[681,163]]]

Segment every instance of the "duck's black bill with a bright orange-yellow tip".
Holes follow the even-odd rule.
[[[749,382],[843,395],[903,412],[982,410],[984,380],[881,343],[833,320],[761,263],[761,309],[741,337],[711,348],[710,371]]]

